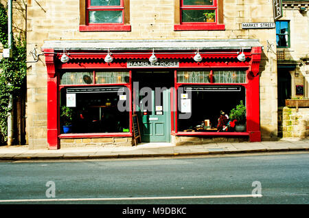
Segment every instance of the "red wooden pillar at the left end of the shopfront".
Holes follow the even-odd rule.
[[[45,49],[47,66],[47,144],[51,150],[59,149],[58,140],[58,78],[54,63],[54,50]]]

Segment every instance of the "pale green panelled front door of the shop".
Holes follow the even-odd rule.
[[[148,110],[143,104],[139,108],[142,142],[170,142],[170,89],[157,93],[157,96],[156,93],[151,91]],[[156,101],[156,98],[161,99]]]

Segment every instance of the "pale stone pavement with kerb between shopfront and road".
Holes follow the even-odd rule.
[[[309,151],[309,139],[285,138],[262,142],[220,142],[175,146],[170,143],[142,143],[137,146],[73,147],[58,150],[29,149],[27,145],[0,146],[0,160],[65,160],[121,157],[160,157],[180,155],[214,155]]]

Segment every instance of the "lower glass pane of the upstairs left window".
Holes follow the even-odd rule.
[[[90,10],[89,23],[122,23],[122,10]]]

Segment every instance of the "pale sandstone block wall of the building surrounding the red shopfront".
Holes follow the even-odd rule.
[[[242,23],[274,22],[271,0],[218,0],[218,21],[224,24],[221,30],[176,30],[179,25],[181,2],[179,0],[125,0],[124,22],[130,30],[85,30],[85,2],[82,0],[27,0],[27,50],[46,52],[45,45],[56,41],[61,45],[70,43],[75,49],[83,42],[104,41],[229,41],[258,40],[262,52],[259,68],[260,133],[262,140],[277,138],[277,50],[275,28],[243,29]],[[298,12],[298,11],[297,11]],[[284,16],[293,16],[285,12]],[[296,18],[295,18],[296,20]],[[299,21],[301,22],[301,21]],[[297,27],[295,27],[297,28]],[[300,27],[299,27],[300,28]],[[294,31],[293,31],[294,32]],[[305,35],[305,34],[304,34]],[[308,34],[306,34],[308,37]],[[299,36],[301,37],[301,36]],[[296,39],[299,41],[299,39]],[[75,43],[75,44],[74,44]],[[44,47],[45,46],[45,47]],[[308,54],[308,44],[307,54]],[[304,45],[297,45],[299,49]],[[56,50],[56,48],[54,47]],[[241,47],[240,47],[241,49]],[[58,53],[60,49],[58,47]],[[69,47],[67,47],[69,50]],[[296,47],[295,47],[296,50]],[[305,50],[304,50],[304,53]],[[295,56],[290,52],[290,56]],[[301,58],[303,55],[295,57]],[[48,60],[39,56],[37,63],[29,63],[27,69],[27,137],[30,149],[47,149],[48,114],[47,75]],[[32,61],[28,56],[28,61]],[[302,69],[303,66],[301,66]],[[122,142],[131,143],[130,138]],[[62,138],[63,145],[83,143],[82,138]],[[88,139],[92,144],[99,139]],[[119,140],[119,139],[118,139]],[[193,139],[194,140],[194,139]],[[106,141],[103,140],[103,141]],[[111,144],[117,144],[114,138]],[[200,141],[200,140],[199,140]],[[100,144],[102,144],[100,142]],[[72,145],[73,146],[73,145]],[[60,142],[61,147],[61,142]],[[59,147],[58,147],[59,148]]]

